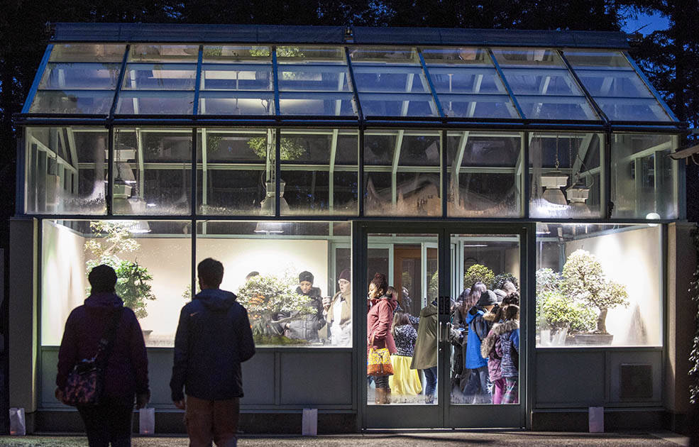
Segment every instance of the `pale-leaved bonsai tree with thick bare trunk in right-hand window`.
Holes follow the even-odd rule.
[[[626,287],[607,278],[595,255],[576,250],[563,265],[561,292],[571,299],[599,310],[597,333],[607,333],[607,311],[617,306],[627,307]]]

